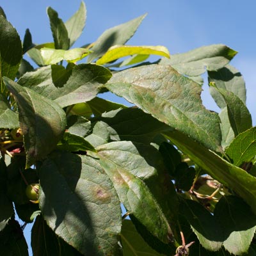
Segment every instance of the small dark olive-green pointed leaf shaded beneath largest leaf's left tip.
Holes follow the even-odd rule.
[[[93,115],[95,116],[100,116],[102,113],[109,112],[111,110],[127,108],[127,106],[123,104],[118,104],[116,102],[101,99],[99,97],[95,97],[86,103],[90,106],[93,111]]]

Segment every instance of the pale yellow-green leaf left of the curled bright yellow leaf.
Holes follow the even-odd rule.
[[[91,51],[84,48],[74,48],[70,50],[60,50],[51,48],[40,49],[44,65],[56,64],[60,61],[66,60],[68,62],[76,62],[82,60]]]

